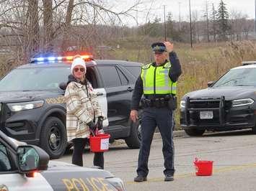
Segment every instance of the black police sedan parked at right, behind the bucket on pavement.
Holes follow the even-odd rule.
[[[187,93],[180,101],[180,124],[190,136],[206,130],[251,128],[256,133],[256,62],[243,62],[208,88]]]

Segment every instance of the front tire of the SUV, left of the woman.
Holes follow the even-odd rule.
[[[40,134],[40,146],[50,159],[58,159],[66,151],[66,127],[59,118],[46,118]]]

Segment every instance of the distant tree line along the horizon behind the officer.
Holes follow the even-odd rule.
[[[247,14],[241,11],[227,11],[223,0],[216,8],[214,4],[205,1],[203,11],[193,11],[192,36],[193,42],[216,42],[225,40],[248,39],[249,32],[254,30],[254,19],[247,19]],[[203,16],[200,17],[201,14]],[[177,22],[172,19],[172,13],[167,15],[167,37],[178,42],[190,41],[190,23]],[[156,17],[138,27],[138,34],[149,35],[151,37],[164,37],[164,23]]]

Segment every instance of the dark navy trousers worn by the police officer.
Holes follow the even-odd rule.
[[[149,174],[149,152],[156,126],[159,128],[163,141],[164,174],[173,175],[175,173],[172,123],[172,111],[169,108],[144,108],[141,118],[141,148],[138,154],[138,175],[146,177]]]

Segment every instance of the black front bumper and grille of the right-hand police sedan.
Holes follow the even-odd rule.
[[[201,111],[212,111],[212,118],[200,118]],[[210,131],[230,131],[255,126],[253,106],[231,107],[231,101],[224,97],[205,100],[187,98],[185,108],[180,109],[182,129],[207,129]]]

